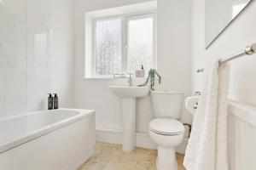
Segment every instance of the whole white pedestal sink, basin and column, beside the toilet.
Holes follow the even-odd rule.
[[[110,91],[122,99],[122,148],[131,151],[136,146],[136,98],[149,94],[149,87],[110,86]]]

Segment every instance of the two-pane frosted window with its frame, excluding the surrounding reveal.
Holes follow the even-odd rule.
[[[154,67],[154,14],[115,16],[94,20],[92,75],[107,77]]]

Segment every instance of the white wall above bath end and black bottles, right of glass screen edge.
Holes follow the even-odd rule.
[[[72,106],[73,1],[48,1],[28,2],[27,112],[47,109],[48,93]],[[44,34],[45,42],[37,40]]]

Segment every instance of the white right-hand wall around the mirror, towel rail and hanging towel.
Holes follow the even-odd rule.
[[[204,49],[204,0],[192,3],[192,54],[193,89],[201,89],[204,78],[196,73],[198,68],[206,68],[222,57],[243,50],[248,44],[256,42],[256,2],[253,1],[242,14],[218,37],[207,50]],[[256,54],[230,61],[230,99],[247,105],[256,105]],[[230,169],[255,169],[255,143],[253,123],[247,123],[245,115],[250,109],[240,110],[231,107],[229,123],[229,161]],[[232,115],[232,113],[236,113]],[[253,112],[253,115],[255,111]],[[247,116],[250,117],[250,116]],[[250,118],[249,118],[250,119]]]

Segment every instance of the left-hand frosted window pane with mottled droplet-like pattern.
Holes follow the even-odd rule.
[[[122,71],[122,20],[96,21],[96,75]]]

